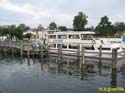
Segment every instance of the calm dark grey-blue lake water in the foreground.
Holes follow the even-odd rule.
[[[4,93],[108,93],[98,88],[113,86],[110,64],[99,68],[98,63],[90,62],[81,73],[79,63],[55,57],[4,58],[0,60],[0,88]],[[124,63],[117,70],[116,87],[125,87]]]

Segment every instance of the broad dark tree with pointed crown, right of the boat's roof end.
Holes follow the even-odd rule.
[[[113,25],[109,22],[107,16],[101,18],[101,22],[96,26],[95,32],[100,35],[110,35],[114,34]]]

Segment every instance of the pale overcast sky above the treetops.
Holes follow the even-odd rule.
[[[31,27],[52,21],[72,27],[73,18],[82,11],[88,26],[95,26],[102,16],[111,22],[125,22],[125,0],[0,0],[0,25],[25,23]]]

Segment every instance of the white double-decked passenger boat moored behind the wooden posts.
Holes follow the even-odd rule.
[[[57,53],[58,48],[61,45],[62,54],[68,55],[69,53],[73,53],[73,51],[82,51],[82,47],[84,47],[86,52],[86,56],[96,56],[100,52],[100,45],[102,46],[102,56],[109,57],[111,56],[112,50],[114,48],[117,49],[118,54],[122,54],[123,49],[121,47],[120,39],[118,42],[109,42],[108,38],[94,38],[94,32],[91,31],[69,31],[69,32],[55,32],[52,34],[48,34],[49,43],[48,46],[50,48],[50,53]],[[111,40],[110,40],[111,41]],[[119,57],[120,57],[119,55]]]

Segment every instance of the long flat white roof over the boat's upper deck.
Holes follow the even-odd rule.
[[[95,34],[93,31],[61,31],[61,32],[54,32],[54,34]]]

